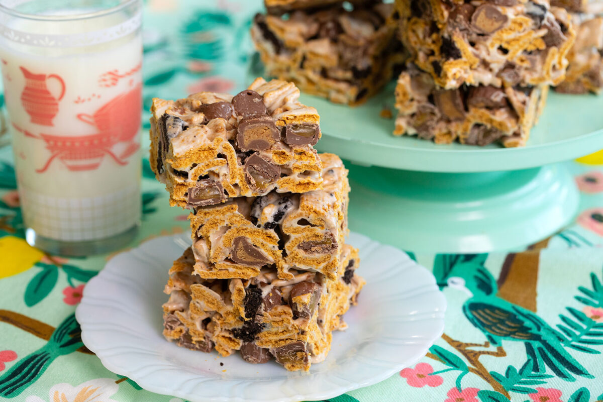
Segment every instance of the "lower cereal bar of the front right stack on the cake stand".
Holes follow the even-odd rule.
[[[396,86],[394,134],[436,143],[522,146],[544,108],[548,86],[461,86],[441,89],[430,74],[408,63]]]

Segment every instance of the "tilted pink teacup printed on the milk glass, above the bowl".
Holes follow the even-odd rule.
[[[140,130],[140,108],[142,107],[142,86],[121,93],[93,115],[80,113],[77,118],[93,125],[99,134],[116,136],[118,142],[128,142],[138,134]]]

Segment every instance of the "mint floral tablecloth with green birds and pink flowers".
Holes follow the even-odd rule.
[[[244,88],[259,8],[255,0],[145,2],[145,110],[153,96]],[[27,245],[11,161],[0,148],[0,397],[182,402],[113,374],[81,343],[75,307],[112,256],[64,259]],[[142,163],[144,218],[130,247],[188,228]],[[570,165],[580,212],[550,239],[516,254],[411,254],[446,295],[444,335],[414,366],[331,401],[603,400],[603,154]]]

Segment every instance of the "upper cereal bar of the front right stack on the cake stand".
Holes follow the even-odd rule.
[[[575,30],[545,0],[397,0],[400,37],[444,89],[556,85]]]

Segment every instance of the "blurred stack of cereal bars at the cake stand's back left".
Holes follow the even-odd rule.
[[[345,4],[344,4],[345,3]],[[268,75],[303,92],[358,105],[403,64],[393,4],[382,0],[265,0],[251,37]]]

